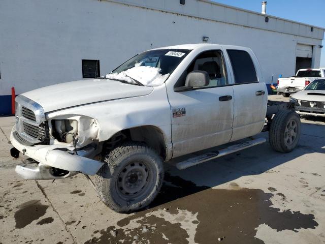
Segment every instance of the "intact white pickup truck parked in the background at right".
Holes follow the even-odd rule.
[[[278,94],[289,97],[292,93],[303,90],[310,82],[325,76],[325,69],[302,69],[295,76],[278,79]]]

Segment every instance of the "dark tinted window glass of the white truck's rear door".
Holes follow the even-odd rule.
[[[258,82],[253,61],[248,52],[242,50],[227,50],[232,63],[235,83]]]

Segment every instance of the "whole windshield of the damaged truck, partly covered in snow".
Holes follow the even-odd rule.
[[[129,84],[163,84],[191,50],[158,49],[140,53],[105,76]]]

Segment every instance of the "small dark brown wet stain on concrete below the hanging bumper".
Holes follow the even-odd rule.
[[[39,219],[45,215],[49,206],[40,203],[40,200],[31,200],[20,205],[15,212],[14,218],[16,228],[21,229],[29,225],[32,221]]]

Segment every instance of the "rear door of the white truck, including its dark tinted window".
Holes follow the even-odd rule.
[[[253,136],[262,131],[267,109],[267,87],[251,51],[227,53],[234,77],[234,123],[231,141]],[[251,57],[253,56],[253,58]]]

